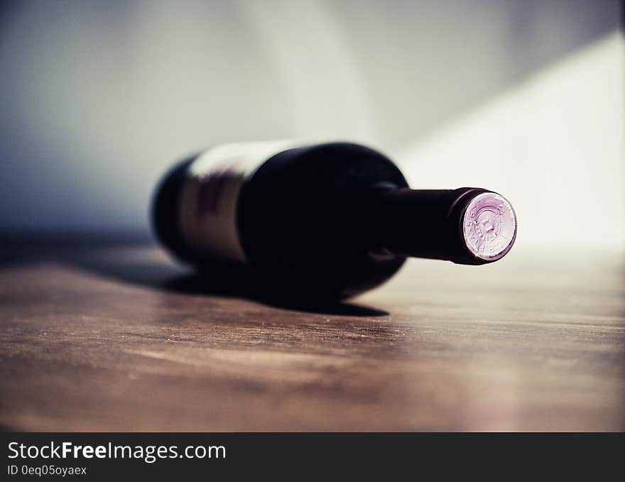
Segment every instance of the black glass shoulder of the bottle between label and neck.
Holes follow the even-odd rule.
[[[239,198],[239,235],[249,261],[343,295],[384,282],[403,258],[371,256],[363,235],[380,184],[407,186],[391,160],[365,146],[327,143],[274,155]]]

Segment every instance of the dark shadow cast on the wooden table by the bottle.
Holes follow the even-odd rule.
[[[28,236],[7,239],[0,268],[40,262],[62,263],[97,276],[156,290],[243,297],[264,305],[302,312],[380,317],[388,312],[346,302],[272,273],[237,263],[211,261],[191,270],[160,256],[153,241],[128,236]],[[156,256],[155,256],[156,255]]]

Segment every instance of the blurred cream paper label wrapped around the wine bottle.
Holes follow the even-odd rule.
[[[293,141],[224,144],[197,156],[180,194],[180,231],[200,256],[246,262],[237,229],[237,204],[244,182]]]

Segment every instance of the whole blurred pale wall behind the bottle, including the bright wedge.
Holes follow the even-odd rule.
[[[625,246],[616,0],[12,1],[0,229],[146,232],[158,178],[217,143],[331,138],[414,187],[477,185],[518,244]]]

